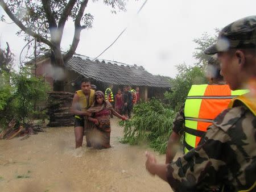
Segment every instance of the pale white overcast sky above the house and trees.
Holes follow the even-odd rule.
[[[213,35],[214,28],[256,14],[255,0],[148,0],[137,15],[143,3],[144,0],[130,0],[126,12],[112,14],[102,1],[89,1],[86,12],[94,15],[93,28],[81,32],[76,53],[94,58],[128,27],[100,58],[142,65],[152,74],[175,77],[175,65],[195,63],[193,39],[203,32]],[[4,14],[2,8],[1,14]],[[7,19],[7,22],[11,20]],[[1,47],[8,41],[18,63],[20,51],[26,44],[22,37],[15,35],[18,27],[0,22],[0,28]],[[72,43],[73,31],[70,22],[65,27],[61,44],[64,51]]]

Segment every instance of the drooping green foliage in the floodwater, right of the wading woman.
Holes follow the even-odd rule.
[[[125,127],[122,143],[148,143],[155,151],[165,153],[175,112],[155,98],[135,105],[133,112],[131,120],[119,122]]]

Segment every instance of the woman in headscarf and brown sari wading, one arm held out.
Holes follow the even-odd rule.
[[[96,91],[94,97],[94,103],[86,111],[92,113],[88,120],[94,123],[90,131],[90,143],[96,149],[110,148],[110,112],[122,120],[127,118],[113,109],[111,103],[105,100],[102,91]]]

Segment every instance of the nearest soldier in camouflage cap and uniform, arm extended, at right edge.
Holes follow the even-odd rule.
[[[256,191],[256,16],[223,28],[205,53],[218,53],[221,73],[232,90],[250,93],[233,99],[214,119],[200,144],[176,162],[157,164],[146,153],[146,168],[175,191]]]

